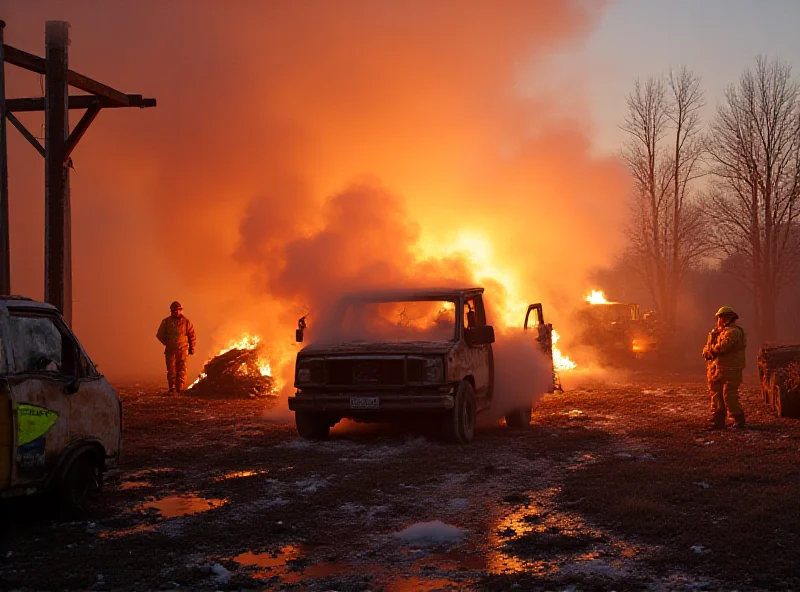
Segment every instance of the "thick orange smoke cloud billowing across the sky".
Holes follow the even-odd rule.
[[[193,371],[243,331],[291,354],[297,317],[314,322],[338,292],[477,281],[475,257],[444,248],[464,232],[490,242],[515,298],[577,302],[618,244],[625,172],[591,155],[583,113],[558,111],[580,89],[523,96],[519,80],[546,76],[599,11],[5,3],[7,43],[41,55],[44,21],[68,20],[73,69],[159,101],[103,111],[73,154],[87,349],[112,377],[160,377],[154,333],[178,299],[199,334]],[[37,76],[8,79],[9,96],[41,93]],[[41,298],[42,163],[9,140],[13,287]]]

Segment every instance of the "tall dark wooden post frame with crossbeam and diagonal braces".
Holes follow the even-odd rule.
[[[58,308],[72,324],[72,235],[70,218],[70,155],[89,129],[100,109],[155,107],[155,99],[128,95],[79,74],[68,67],[69,23],[45,24],[45,57],[3,43],[5,23],[0,21],[0,294],[11,293],[11,254],[8,218],[9,121],[45,160],[45,264],[44,299]],[[43,74],[45,96],[8,99],[5,96],[5,64]],[[69,87],[89,93],[69,95]],[[70,131],[69,110],[85,109]],[[28,131],[14,113],[44,111],[45,145]]]

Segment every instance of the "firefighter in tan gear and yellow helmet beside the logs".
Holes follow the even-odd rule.
[[[736,324],[739,318],[730,306],[717,311],[717,326],[708,334],[703,357],[706,360],[708,392],[711,395],[711,426],[725,427],[726,412],[733,419],[730,426],[744,427],[744,410],[739,403],[739,385],[742,384],[747,348],[744,329]]]

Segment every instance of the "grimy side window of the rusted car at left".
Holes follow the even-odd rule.
[[[9,321],[17,373],[76,374],[75,346],[52,317],[12,314]]]

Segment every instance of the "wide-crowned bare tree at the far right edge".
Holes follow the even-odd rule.
[[[774,340],[778,295],[800,265],[800,87],[791,66],[759,57],[725,92],[707,149],[716,244],[747,263],[740,279],[753,293],[756,330]]]

